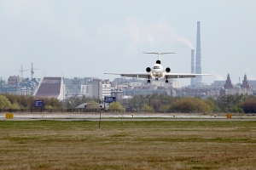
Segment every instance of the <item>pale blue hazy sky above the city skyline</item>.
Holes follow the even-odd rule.
[[[0,0],[0,76],[118,76],[143,72],[161,56],[172,72],[190,73],[201,21],[202,81],[256,79],[254,0]],[[20,75],[21,76],[21,75]],[[30,77],[24,71],[23,77]],[[190,79],[179,79],[182,86]]]

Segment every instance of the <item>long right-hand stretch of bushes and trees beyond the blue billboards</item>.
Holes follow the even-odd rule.
[[[201,99],[200,97],[173,97],[166,94],[137,95],[126,106],[133,110],[155,112],[256,113],[256,97],[248,94],[228,94]]]

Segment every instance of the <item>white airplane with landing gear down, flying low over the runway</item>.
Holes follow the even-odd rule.
[[[146,53],[144,54],[158,54],[158,59],[156,63],[152,65],[152,67],[147,67],[147,72],[135,72],[135,73],[104,73],[104,74],[111,74],[111,75],[120,75],[121,77],[138,77],[138,78],[148,78],[148,83],[150,83],[150,79],[155,77],[155,80],[158,81],[160,77],[166,78],[166,83],[168,83],[168,78],[192,78],[196,76],[211,76],[211,74],[188,74],[188,73],[171,73],[171,69],[166,67],[166,70],[161,65],[160,62],[160,54],[175,54],[175,53]]]

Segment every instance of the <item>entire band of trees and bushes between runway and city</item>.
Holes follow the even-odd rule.
[[[83,96],[60,101],[54,98],[41,98],[45,109],[73,109],[83,103],[87,108],[95,109],[101,103],[99,99]],[[31,109],[34,108],[33,96],[2,94],[0,95],[0,109]],[[199,97],[173,97],[166,94],[137,95],[132,99],[119,99],[112,103],[109,109],[132,110],[148,112],[233,112],[256,113],[256,97],[247,94],[228,94],[223,96],[201,99]]]

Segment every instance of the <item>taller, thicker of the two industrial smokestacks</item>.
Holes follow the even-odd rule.
[[[197,35],[196,35],[196,54],[195,54],[195,74],[201,74],[201,35],[200,35],[200,21],[197,21]],[[201,85],[201,76],[195,78],[195,85]]]

